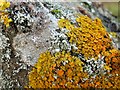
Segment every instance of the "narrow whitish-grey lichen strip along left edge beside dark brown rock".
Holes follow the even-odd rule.
[[[1,25],[2,26],[2,25]],[[3,63],[10,60],[11,49],[9,48],[9,38],[2,34],[2,28],[0,28],[0,88],[5,88],[7,83],[3,75]]]

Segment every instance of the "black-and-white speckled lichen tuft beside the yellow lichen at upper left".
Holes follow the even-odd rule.
[[[18,28],[18,31],[29,31],[33,24],[33,18],[30,15],[30,8],[26,7],[26,3],[14,3],[11,11],[13,21]]]

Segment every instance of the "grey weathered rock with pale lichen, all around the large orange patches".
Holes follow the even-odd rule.
[[[3,88],[24,87],[28,71],[37,62],[40,53],[51,50],[51,46],[56,45],[54,48],[56,51],[60,48],[70,50],[74,46],[58,40],[60,37],[66,39],[64,34],[59,33],[57,22],[60,18],[69,18],[75,22],[75,17],[79,13],[91,18],[100,17],[108,31],[118,31],[120,28],[115,18],[101,4],[90,1],[79,3],[16,1],[11,2],[9,10],[12,11],[10,17],[14,21],[10,29],[14,31],[14,35],[10,36],[12,30],[4,33],[2,32],[4,30],[0,29],[2,76],[0,83]],[[120,48],[120,45],[116,48]]]

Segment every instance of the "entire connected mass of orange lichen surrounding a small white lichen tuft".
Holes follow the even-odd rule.
[[[86,59],[104,56],[106,74],[91,77],[83,70],[86,63],[70,52],[45,52],[29,74],[29,88],[120,88],[120,51],[112,47],[101,20],[81,16],[76,21],[76,26],[66,19],[58,22],[69,30],[69,42],[78,47],[72,53],[82,53]]]

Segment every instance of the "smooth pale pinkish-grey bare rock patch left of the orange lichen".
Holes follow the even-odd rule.
[[[45,30],[43,32],[18,34],[13,39],[13,47],[17,54],[20,55],[21,61],[28,65],[34,65],[41,52],[44,52],[50,46],[49,41],[50,32]]]

